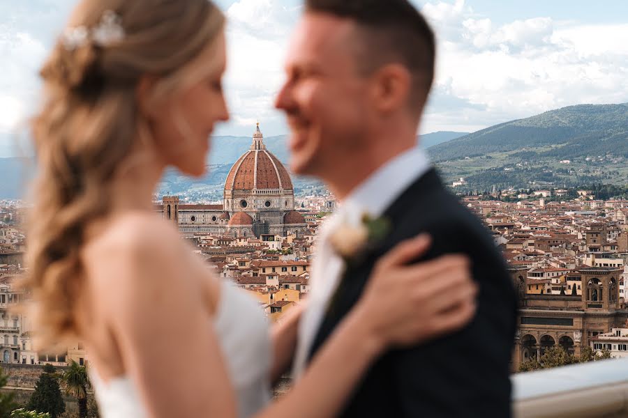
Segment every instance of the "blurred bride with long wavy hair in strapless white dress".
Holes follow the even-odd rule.
[[[29,231],[37,331],[49,344],[84,342],[105,418],[332,417],[384,350],[473,315],[467,262],[406,267],[427,245],[406,242],[304,378],[269,403],[298,316],[270,332],[257,303],[214,277],[151,203],[166,167],[204,173],[208,138],[228,118],[223,25],[207,0],[84,0],[41,70]],[[424,303],[444,282],[461,292]]]

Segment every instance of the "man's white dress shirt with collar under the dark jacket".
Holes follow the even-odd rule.
[[[308,353],[322,323],[327,302],[336,291],[345,268],[342,258],[327,242],[329,234],[340,224],[358,225],[365,212],[373,218],[382,216],[405,189],[430,168],[428,157],[421,148],[412,148],[398,155],[356,187],[321,227],[312,262],[308,304],[299,321],[294,378],[300,378],[306,369]]]

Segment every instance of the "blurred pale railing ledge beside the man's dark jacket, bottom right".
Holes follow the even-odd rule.
[[[628,359],[518,373],[514,416],[628,417]]]

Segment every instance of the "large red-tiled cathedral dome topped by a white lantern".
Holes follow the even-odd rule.
[[[231,168],[225,190],[285,189],[292,190],[292,180],[283,164],[266,149],[257,124],[253,144]]]

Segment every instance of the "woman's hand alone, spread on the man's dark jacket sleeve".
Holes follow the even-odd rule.
[[[373,269],[356,313],[381,350],[456,332],[475,314],[478,288],[466,256],[408,265],[430,245],[428,235],[401,242]]]

